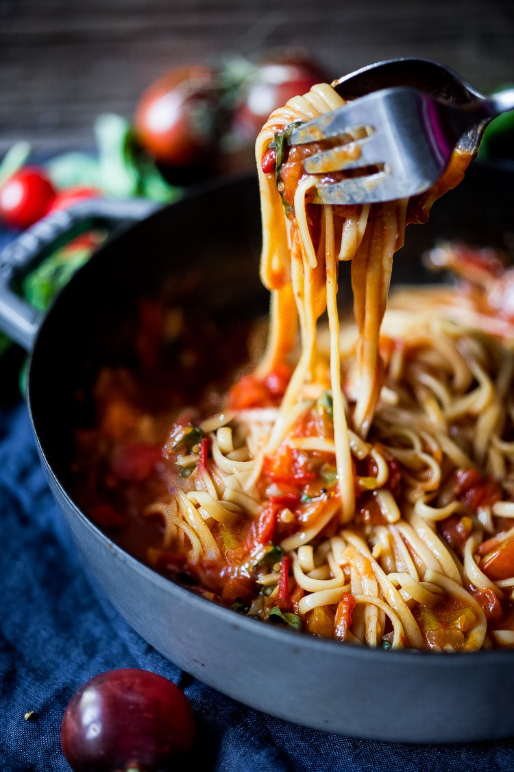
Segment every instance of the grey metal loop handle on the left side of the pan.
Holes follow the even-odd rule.
[[[162,204],[147,198],[91,198],[53,212],[24,231],[0,253],[0,330],[25,350],[32,350],[45,314],[17,292],[22,279],[45,257],[81,233],[93,229],[111,232],[143,220],[160,208]]]

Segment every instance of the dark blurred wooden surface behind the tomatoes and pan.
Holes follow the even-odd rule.
[[[481,90],[514,81],[512,0],[0,0],[0,154],[92,145],[166,69],[303,46],[332,76],[391,56],[452,66]]]

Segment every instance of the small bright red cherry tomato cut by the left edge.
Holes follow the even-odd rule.
[[[28,228],[49,210],[55,188],[43,169],[18,169],[0,188],[0,219],[14,228]]]

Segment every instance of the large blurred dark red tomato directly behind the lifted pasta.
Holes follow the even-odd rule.
[[[244,99],[234,112],[234,129],[254,140],[274,110],[326,80],[321,68],[307,58],[284,56],[263,63],[244,86]]]

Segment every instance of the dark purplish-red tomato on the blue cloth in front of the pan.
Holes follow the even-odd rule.
[[[100,673],[70,699],[61,745],[75,772],[158,772],[193,746],[193,709],[162,675],[124,668]]]

